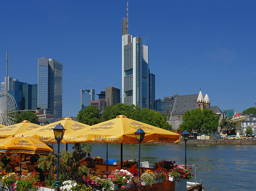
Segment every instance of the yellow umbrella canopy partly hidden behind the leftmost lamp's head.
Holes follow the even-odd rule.
[[[73,121],[71,118],[65,117],[60,121],[41,126],[38,129],[31,130],[26,133],[17,134],[15,135],[15,137],[20,137],[23,135],[24,137],[33,138],[35,136],[38,136],[39,140],[43,142],[57,142],[55,140],[54,133],[52,130],[53,128],[55,128],[57,124],[61,124],[64,127],[64,129],[66,129],[65,134],[90,127],[89,125],[85,125],[85,124],[82,124],[81,122]]]

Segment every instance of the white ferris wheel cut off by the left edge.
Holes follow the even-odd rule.
[[[13,125],[16,124],[18,117],[17,104],[13,96],[8,94],[7,99],[7,124],[6,124],[6,93],[0,93],[0,124],[2,125]]]

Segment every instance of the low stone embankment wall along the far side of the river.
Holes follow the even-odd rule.
[[[179,144],[184,144],[184,141],[180,141]],[[217,139],[217,140],[188,140],[187,145],[256,145],[256,140],[227,140],[227,139]]]

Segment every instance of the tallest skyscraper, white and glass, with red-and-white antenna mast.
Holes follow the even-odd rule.
[[[122,103],[148,108],[148,46],[128,31],[127,16],[122,19]]]

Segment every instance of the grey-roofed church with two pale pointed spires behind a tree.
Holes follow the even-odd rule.
[[[221,112],[218,106],[210,106],[210,99],[206,93],[203,96],[203,93],[200,88],[199,94],[192,95],[176,95],[174,101],[174,107],[172,108],[171,116],[168,120],[168,123],[172,125],[172,129],[178,129],[180,124],[182,124],[182,116],[184,112],[200,108],[202,111],[204,108],[211,109],[213,112],[220,116],[222,120],[223,113]]]

